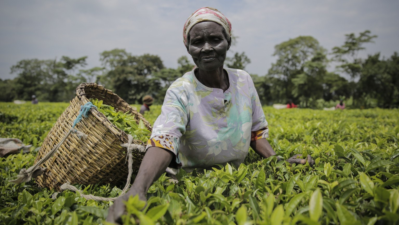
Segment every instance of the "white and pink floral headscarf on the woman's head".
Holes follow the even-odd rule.
[[[190,32],[191,28],[198,24],[199,22],[203,21],[213,21],[217,22],[220,24],[231,36],[231,23],[227,18],[219,12],[219,10],[211,7],[203,7],[200,8],[199,10],[195,11],[193,14],[191,14],[190,17],[188,17],[186,23],[184,24],[183,28],[183,41],[184,45],[187,46],[187,36],[188,32]]]

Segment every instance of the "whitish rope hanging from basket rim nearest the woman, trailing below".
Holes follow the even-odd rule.
[[[130,179],[132,177],[132,165],[133,165],[133,155],[132,152],[134,149],[137,149],[138,151],[144,152],[145,147],[142,145],[136,145],[133,142],[133,137],[132,135],[128,134],[128,143],[122,143],[120,146],[126,147],[127,148],[127,158],[128,158],[128,176],[126,179],[126,185],[124,186],[122,193],[120,193],[120,196],[124,195],[126,191],[128,191],[129,186],[130,186]],[[76,187],[72,186],[71,183],[66,182],[63,185],[61,185],[61,190],[71,190],[75,191],[76,193],[79,193],[81,197],[84,197],[85,199],[93,199],[95,201],[114,201],[117,199],[117,197],[113,198],[105,198],[105,197],[98,197],[95,195],[85,195],[82,193],[82,191],[78,190]]]

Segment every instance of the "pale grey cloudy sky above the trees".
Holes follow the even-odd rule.
[[[250,74],[267,74],[274,46],[298,36],[313,36],[331,52],[345,34],[370,30],[378,38],[360,57],[399,52],[397,0],[2,0],[0,78],[15,78],[10,67],[24,59],[88,56],[85,69],[101,66],[99,54],[115,48],[158,55],[165,67],[177,68],[180,56],[190,58],[183,25],[205,6],[230,20],[238,39],[227,56],[245,52]]]

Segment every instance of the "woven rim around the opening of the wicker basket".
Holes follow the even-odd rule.
[[[119,102],[122,102],[122,104],[126,104],[126,107],[129,109],[131,114],[137,114],[137,116],[144,122],[144,125],[147,127],[147,129],[149,131],[152,131],[152,127],[151,127],[150,123],[144,118],[144,116],[141,113],[139,113],[138,111],[134,110],[130,106],[130,104],[128,104],[125,100],[120,98],[112,90],[104,88],[104,86],[101,85],[101,84],[97,84],[97,83],[81,83],[81,84],[79,84],[79,86],[77,86],[77,88],[76,88],[76,96],[82,102],[82,105],[86,104],[87,102],[90,102],[89,98],[87,98],[87,96],[86,96],[86,92],[85,92],[86,88],[99,89],[102,92],[107,92],[108,94],[111,94],[111,95],[117,97],[119,99]],[[107,129],[109,129],[109,131],[111,131],[111,133],[113,133],[115,136],[117,136],[120,141],[122,141],[122,142],[128,141],[128,134],[126,132],[122,131],[121,129],[119,129],[117,126],[115,126],[111,121],[109,121],[109,119],[107,119],[107,117],[103,113],[101,113],[99,110],[97,110],[97,108],[92,107],[89,112],[94,117],[96,117],[105,127],[107,127]],[[136,123],[138,123],[137,120],[136,120]],[[134,140],[134,141],[139,142],[141,144],[145,144],[141,140]]]

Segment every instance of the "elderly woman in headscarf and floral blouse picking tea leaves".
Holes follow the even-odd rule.
[[[200,8],[184,24],[184,45],[196,68],[166,92],[147,152],[130,190],[109,209],[108,221],[124,212],[123,200],[146,192],[168,168],[207,169],[215,164],[239,166],[249,146],[262,157],[275,155],[269,128],[249,74],[223,68],[231,46],[231,24],[215,8]],[[279,159],[280,160],[280,159]],[[306,163],[305,159],[288,159]],[[308,156],[309,163],[312,159]],[[170,168],[169,168],[170,167]]]

